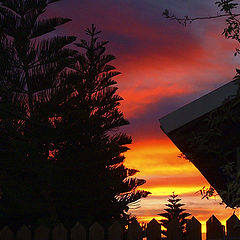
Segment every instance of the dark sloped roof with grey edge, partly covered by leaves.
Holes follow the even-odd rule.
[[[231,119],[222,123],[219,126],[222,135],[217,136],[216,141],[200,144],[193,140],[193,136],[196,136],[196,134],[201,136],[203,133],[208,134],[210,126],[206,119],[209,119],[211,113],[215,110],[222,110],[224,106],[234,101],[238,87],[236,81],[231,81],[159,120],[164,133],[218,193],[226,190],[228,181],[230,181],[224,173],[223,166],[229,161],[239,165],[237,152],[240,147],[238,137],[240,136],[240,123],[233,124]],[[240,104],[236,105],[234,109],[231,108],[230,111],[232,115],[238,117],[240,115]],[[227,158],[222,157],[222,155],[219,157],[219,155],[211,152],[212,144],[217,145],[223,153],[231,152],[231,155]],[[224,196],[221,197],[224,198]]]

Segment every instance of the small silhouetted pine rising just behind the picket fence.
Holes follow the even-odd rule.
[[[160,223],[162,226],[167,229],[169,222],[172,221],[173,218],[176,218],[180,224],[180,227],[183,232],[183,239],[185,239],[185,231],[186,231],[186,223],[188,221],[187,217],[190,216],[190,213],[184,212],[186,209],[181,208],[185,204],[179,203],[182,199],[177,198],[178,195],[175,195],[174,192],[172,195],[170,195],[170,198],[168,199],[168,204],[165,204],[168,208],[165,208],[165,213],[158,214],[161,217],[164,217],[165,219],[160,220]],[[167,231],[163,230],[162,233],[167,236]]]

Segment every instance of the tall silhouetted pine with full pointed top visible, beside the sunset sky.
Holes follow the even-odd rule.
[[[123,164],[132,140],[117,131],[128,121],[118,109],[122,98],[113,77],[119,72],[109,64],[115,57],[105,54],[108,42],[99,41],[99,33],[92,25],[86,30],[89,41],[76,44],[84,51],[66,78],[72,94],[62,105],[57,126],[62,140],[55,157],[66,180],[56,193],[63,199],[58,211],[69,221],[127,220],[129,205],[149,194],[136,190],[145,180],[131,178],[137,170]]]

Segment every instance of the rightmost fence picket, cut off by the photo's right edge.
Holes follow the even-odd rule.
[[[227,239],[240,240],[240,220],[233,214],[227,221]]]

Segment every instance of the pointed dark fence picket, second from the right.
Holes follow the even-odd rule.
[[[207,220],[206,225],[207,225],[207,240],[225,239],[224,226],[214,215],[212,215]]]

